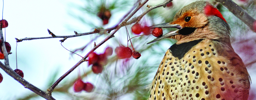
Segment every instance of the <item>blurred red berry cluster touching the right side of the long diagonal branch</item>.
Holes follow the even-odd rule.
[[[88,55],[88,64],[92,65],[92,72],[93,73],[101,73],[103,70],[103,66],[108,64],[107,56],[111,56],[113,53],[113,48],[107,47],[103,54],[96,54],[92,52]]]

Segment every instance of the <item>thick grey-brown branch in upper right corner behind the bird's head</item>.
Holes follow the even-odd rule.
[[[250,16],[243,8],[238,6],[235,2],[232,0],[215,0],[217,2],[220,2],[223,6],[228,8],[230,12],[232,12],[237,18],[239,18],[241,21],[243,21],[250,29],[254,32],[253,23],[256,21],[252,16]]]

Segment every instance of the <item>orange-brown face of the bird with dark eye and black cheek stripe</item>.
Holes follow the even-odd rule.
[[[204,38],[205,26],[207,25],[207,16],[204,13],[199,13],[197,9],[190,9],[180,16],[176,16],[170,24],[178,24],[182,27],[179,34],[170,36],[177,40],[177,44],[198,40]]]

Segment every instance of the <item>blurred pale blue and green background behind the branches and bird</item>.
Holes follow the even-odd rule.
[[[151,26],[170,22],[178,10],[194,1],[173,0],[165,8],[160,7],[150,11],[139,24]],[[254,19],[256,18],[255,0],[233,1],[244,8]],[[163,2],[165,0],[149,0],[146,5],[154,6]],[[232,46],[244,61],[252,79],[249,100],[256,100],[256,34],[224,6],[216,4],[213,0],[210,2],[217,5],[231,26]],[[133,17],[143,13],[147,9],[146,5]],[[15,38],[51,36],[47,29],[55,35],[74,35],[74,31],[85,33],[94,31],[95,28],[114,27],[131,9],[137,6],[137,0],[6,0],[4,1],[3,19],[8,21],[9,26],[3,29],[3,33],[6,34],[6,42],[9,42],[12,47],[12,54],[9,55],[10,66],[16,69]],[[110,13],[111,16],[100,15],[105,12]],[[131,32],[132,25],[127,26],[130,37],[137,36]],[[164,33],[168,31],[172,29],[164,29]],[[98,44],[108,35],[107,32],[100,32],[68,38],[62,45],[85,56],[93,48],[94,42]],[[87,62],[82,63],[54,89],[53,98],[57,100],[147,100],[149,92],[146,87],[155,76],[164,53],[175,43],[174,40],[164,39],[146,44],[154,38],[152,35],[134,37],[131,42],[134,49],[141,53],[141,57],[138,60],[132,57],[117,59],[116,53],[113,52],[100,74],[92,72],[92,65],[88,65]],[[26,40],[17,43],[18,69],[23,71],[24,79],[43,91],[46,91],[59,77],[81,60],[80,56],[70,53],[61,46],[59,42],[61,39]],[[125,27],[122,27],[115,37],[105,42],[95,52],[101,54],[106,47],[112,47],[115,50],[120,45],[127,46]],[[128,46],[132,48],[130,42]],[[0,61],[4,62],[4,60]],[[0,83],[0,100],[44,100],[24,88],[3,70],[0,70],[0,73],[3,76],[3,81]],[[79,75],[83,82],[90,82],[94,85],[93,92],[74,92],[73,83]]]

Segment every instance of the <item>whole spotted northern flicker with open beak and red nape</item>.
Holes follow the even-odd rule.
[[[177,12],[163,38],[177,40],[165,53],[150,88],[149,100],[247,100],[250,76],[230,43],[230,27],[207,1]],[[148,44],[149,44],[148,43]]]

